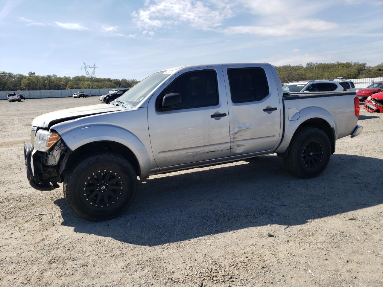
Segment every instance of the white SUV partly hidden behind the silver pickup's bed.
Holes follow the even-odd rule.
[[[313,80],[290,82],[283,86],[283,92],[339,92],[347,91],[338,82],[332,80]]]

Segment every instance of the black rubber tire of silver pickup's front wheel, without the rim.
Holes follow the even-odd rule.
[[[121,178],[122,195],[115,203],[107,207],[96,207],[85,201],[84,182],[97,171],[112,171]],[[119,181],[119,180],[118,180]],[[106,182],[106,181],[105,181]],[[137,193],[137,174],[128,160],[112,152],[92,154],[80,159],[64,179],[64,197],[70,209],[82,219],[90,221],[103,221],[118,217],[132,204]]]

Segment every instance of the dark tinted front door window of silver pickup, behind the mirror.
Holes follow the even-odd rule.
[[[219,103],[217,74],[214,70],[202,70],[179,76],[157,97],[157,109],[161,108],[162,98],[170,93],[180,93],[182,99],[171,110],[216,106]]]

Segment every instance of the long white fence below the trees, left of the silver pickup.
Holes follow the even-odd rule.
[[[102,96],[112,89],[90,89],[81,90],[87,96]],[[39,98],[64,98],[70,97],[72,94],[77,93],[79,90],[38,90],[38,91],[0,91],[0,99],[7,99],[10,93],[24,94],[26,99],[39,99]]]

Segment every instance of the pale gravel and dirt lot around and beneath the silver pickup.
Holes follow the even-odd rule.
[[[29,186],[23,142],[34,117],[96,103],[0,101],[1,286],[382,286],[381,114],[361,109],[363,133],[318,178],[275,155],[151,176],[126,214],[93,223],[62,189]]]

